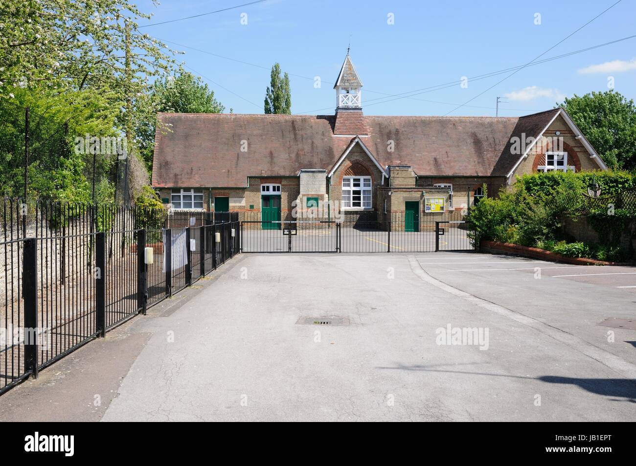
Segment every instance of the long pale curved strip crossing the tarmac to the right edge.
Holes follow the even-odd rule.
[[[541,322],[541,320],[533,319],[527,315],[522,313],[515,312],[508,308],[504,308],[504,306],[499,306],[495,303],[491,303],[486,299],[477,298],[477,296],[473,296],[466,291],[462,291],[459,288],[452,287],[451,285],[445,284],[441,280],[432,277],[429,275],[424,268],[420,265],[418,261],[413,259],[408,259],[408,263],[411,266],[411,270],[418,278],[420,278],[423,282],[433,285],[434,287],[438,287],[443,291],[446,291],[453,296],[457,296],[457,298],[462,298],[472,303],[476,306],[480,306],[486,310],[492,311],[508,319],[515,320],[515,322],[519,322],[520,324],[531,327],[532,329],[543,333],[544,335],[550,336],[556,341],[560,341],[566,346],[569,346],[575,351],[583,353],[587,357],[594,359],[604,366],[610,367],[614,371],[619,374],[623,374],[627,378],[636,378],[636,365],[628,362],[617,355],[610,353],[609,351],[604,350],[603,348],[599,348],[598,346],[594,346],[587,341],[577,337],[576,335],[572,335],[566,331],[559,329],[558,327],[553,327],[545,322]]]

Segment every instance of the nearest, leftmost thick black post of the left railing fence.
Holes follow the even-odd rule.
[[[22,252],[24,295],[24,372],[38,377],[38,240],[29,238]]]

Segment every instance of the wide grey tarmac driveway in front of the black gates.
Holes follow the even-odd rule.
[[[105,382],[72,383],[70,369],[56,390],[77,400],[66,418],[106,421],[633,421],[636,330],[598,323],[634,319],[636,295],[550,277],[556,266],[459,253],[240,254],[190,299],[111,332],[140,342],[104,406],[90,405]],[[97,346],[74,357],[97,357]],[[30,411],[60,418],[53,393],[30,384],[0,398],[2,417],[24,415],[16,397],[31,390]]]

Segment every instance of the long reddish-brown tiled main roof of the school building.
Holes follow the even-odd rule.
[[[362,116],[368,136],[361,140],[382,167],[410,165],[420,176],[505,176],[519,159],[508,155],[512,135],[536,137],[556,111],[522,118]],[[334,134],[333,115],[160,113],[158,118],[170,130],[158,129],[155,136],[156,187],[246,186],[248,176],[329,170],[352,140]]]

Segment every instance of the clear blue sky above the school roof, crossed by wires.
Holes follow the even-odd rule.
[[[249,1],[163,0],[154,7],[144,0],[140,8],[155,15],[139,24]],[[634,99],[636,38],[525,67],[459,109],[455,107],[510,72],[468,79],[467,87],[457,83],[411,99],[382,93],[422,90],[460,81],[462,76],[472,78],[527,64],[615,2],[268,0],[141,31],[252,64],[168,44],[186,52],[178,59],[188,71],[204,77],[226,111],[232,107],[235,113],[263,113],[269,70],[279,62],[290,74],[292,113],[332,114],[333,82],[350,41],[352,61],[364,83],[365,114],[494,116],[495,99],[502,96],[508,103],[501,104],[500,116],[518,116],[550,109],[563,96],[605,91],[609,78],[618,92]],[[241,24],[242,13],[247,13],[247,24]],[[389,13],[394,24],[388,24]],[[535,24],[536,13],[541,24]],[[636,34],[634,18],[636,0],[623,0],[539,60],[632,36]],[[320,88],[315,88],[314,76],[321,78]]]

